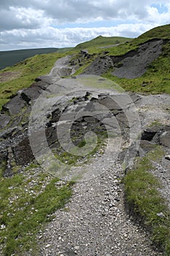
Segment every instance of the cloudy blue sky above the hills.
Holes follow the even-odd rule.
[[[0,0],[0,51],[138,37],[168,23],[169,0]]]

